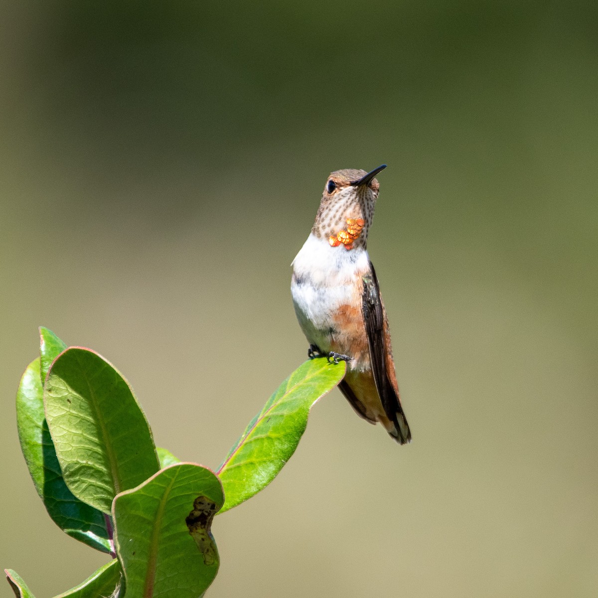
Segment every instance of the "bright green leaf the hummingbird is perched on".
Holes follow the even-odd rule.
[[[249,422],[216,474],[226,501],[220,512],[263,490],[297,449],[312,405],[343,379],[344,361],[306,361],[270,397]]]

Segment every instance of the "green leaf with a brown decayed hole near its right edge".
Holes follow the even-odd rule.
[[[112,517],[127,596],[203,593],[218,571],[210,526],[222,502],[218,478],[194,463],[171,465],[120,493]]]

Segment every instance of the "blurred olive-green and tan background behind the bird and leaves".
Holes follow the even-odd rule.
[[[3,2],[0,565],[43,598],[106,560],[20,455],[36,327],[216,466],[306,357],[289,264],[328,173],[388,163],[413,443],[335,390],[216,518],[209,595],[596,596],[597,32],[596,2]]]

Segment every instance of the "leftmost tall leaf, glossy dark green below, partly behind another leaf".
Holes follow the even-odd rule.
[[[17,426],[23,456],[48,515],[69,536],[109,553],[103,513],[75,498],[60,471],[44,416],[39,358],[25,370],[17,390]]]

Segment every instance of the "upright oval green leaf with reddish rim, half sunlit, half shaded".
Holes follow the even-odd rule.
[[[81,347],[60,353],[48,371],[44,405],[66,485],[81,501],[109,513],[114,496],[158,471],[132,389],[97,353]]]

